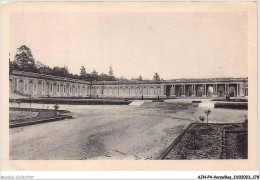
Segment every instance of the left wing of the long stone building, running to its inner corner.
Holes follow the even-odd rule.
[[[9,91],[32,97],[87,97],[90,95],[90,83],[45,74],[13,71],[9,75]]]

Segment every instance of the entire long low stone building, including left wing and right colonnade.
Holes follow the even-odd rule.
[[[13,71],[10,94],[31,97],[230,97],[248,96],[248,78],[175,79],[163,81],[83,81]]]

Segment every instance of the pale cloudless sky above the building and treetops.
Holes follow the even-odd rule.
[[[36,61],[116,77],[247,77],[242,12],[34,12],[10,18],[10,53],[28,46]]]

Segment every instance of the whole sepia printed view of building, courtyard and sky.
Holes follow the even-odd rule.
[[[7,3],[9,160],[248,160],[250,3]]]

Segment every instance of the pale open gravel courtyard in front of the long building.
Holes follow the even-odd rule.
[[[205,116],[204,108],[172,102],[60,109],[75,118],[10,129],[10,159],[156,159],[190,122]],[[211,111],[209,122],[216,123],[243,122],[247,115],[247,110]]]

